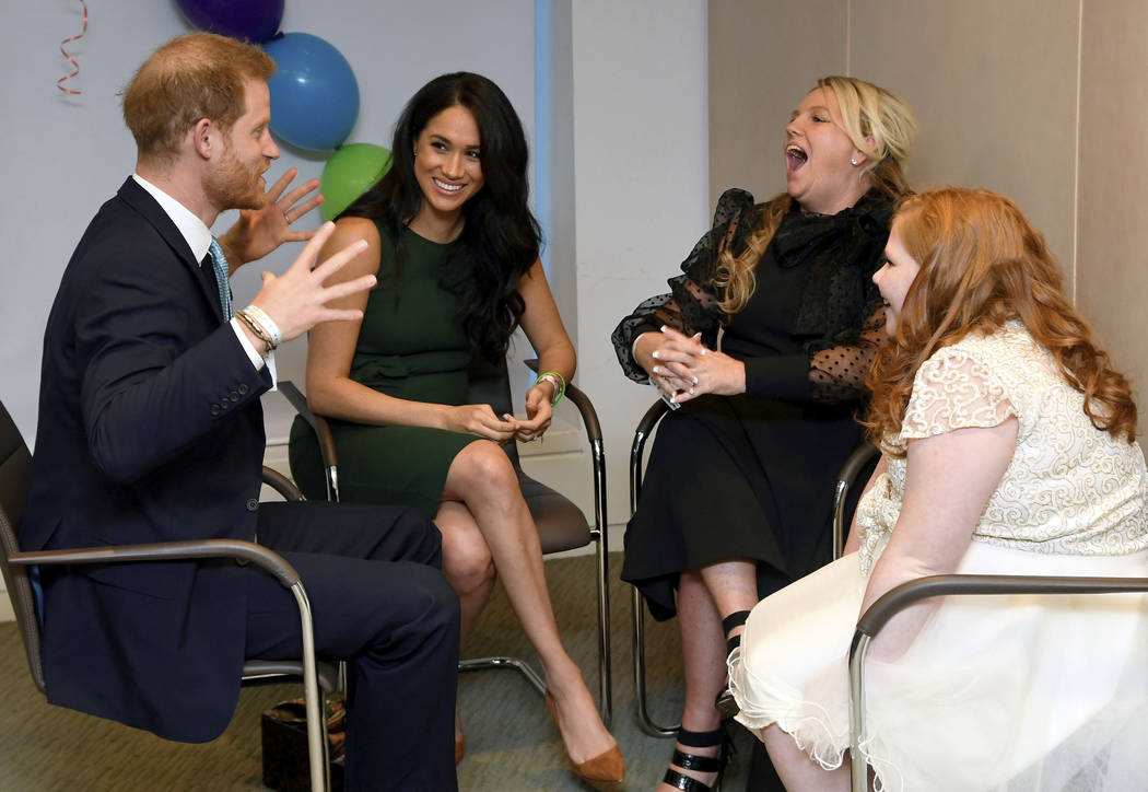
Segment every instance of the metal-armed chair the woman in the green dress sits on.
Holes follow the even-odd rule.
[[[526,364],[537,372],[537,360]],[[513,412],[510,382],[505,362],[502,365],[472,362],[470,401],[473,404],[490,404],[496,413]],[[279,390],[292,406],[315,430],[326,473],[327,499],[339,500],[339,459],[331,427],[323,416],[311,411],[307,396],[290,381],[280,381]],[[608,539],[606,526],[606,456],[602,440],[598,414],[589,397],[573,382],[566,385],[566,398],[577,409],[590,445],[590,464],[594,481],[594,522],[567,498],[549,487],[526,475],[519,464],[518,450],[513,443],[503,448],[510,456],[519,476],[519,484],[527,506],[538,526],[542,553],[574,550],[590,542],[596,549],[595,584],[598,595],[598,706],[602,719],[608,727],[613,717],[613,689],[611,683],[610,651],[610,590],[606,585],[608,573]],[[538,674],[523,660],[513,657],[489,657],[461,660],[459,671],[510,668],[519,671],[538,693],[545,693],[545,684]]]

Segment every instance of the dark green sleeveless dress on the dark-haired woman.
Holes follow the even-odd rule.
[[[458,298],[439,285],[455,246],[403,231],[406,261],[398,275],[390,234],[382,240],[379,282],[359,328],[350,378],[379,393],[412,402],[464,404],[470,343],[458,318]],[[417,426],[369,426],[331,420],[339,455],[339,494],[348,503],[414,506],[433,518],[447,469],[478,437]],[[292,475],[309,499],[326,498],[319,443],[296,417],[290,429]]]

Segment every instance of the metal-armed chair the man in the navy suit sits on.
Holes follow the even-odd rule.
[[[135,561],[172,561],[207,558],[231,558],[251,564],[270,575],[295,597],[303,632],[303,658],[298,661],[249,660],[243,665],[245,682],[281,682],[284,676],[302,677],[307,698],[308,754],[311,789],[329,789],[326,721],[319,698],[320,682],[325,690],[334,688],[334,671],[315,659],[311,607],[298,573],[279,554],[251,542],[239,539],[203,539],[199,542],[162,542],[153,544],[110,545],[22,552],[17,526],[28,500],[32,455],[20,429],[3,404],[0,404],[0,572],[11,597],[16,622],[24,642],[32,682],[41,693],[47,686],[40,652],[40,623],[28,567],[73,564],[108,564]],[[289,480],[264,468],[264,481],[287,499],[302,496]]]

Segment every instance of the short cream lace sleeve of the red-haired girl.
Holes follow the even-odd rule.
[[[987,365],[964,352],[943,351],[925,360],[913,380],[899,441],[903,445],[954,429],[999,426],[1016,414]]]

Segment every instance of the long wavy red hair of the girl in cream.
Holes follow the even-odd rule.
[[[913,379],[933,352],[1009,319],[1023,321],[1053,354],[1064,380],[1084,394],[1093,426],[1133,440],[1137,405],[1128,381],[1093,344],[1044,235],[1019,207],[987,189],[934,189],[906,199],[893,228],[921,271],[869,372],[872,399],[863,425],[871,440],[900,432]]]

